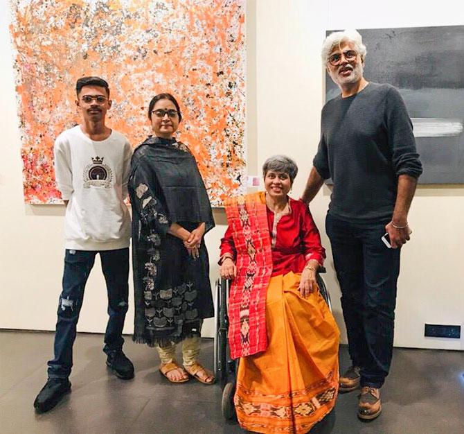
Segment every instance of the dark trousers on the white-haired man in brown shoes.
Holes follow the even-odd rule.
[[[389,249],[380,239],[387,223],[350,223],[330,214],[325,220],[350,357],[361,368],[361,385],[375,388],[390,369],[400,273],[400,249]]]

